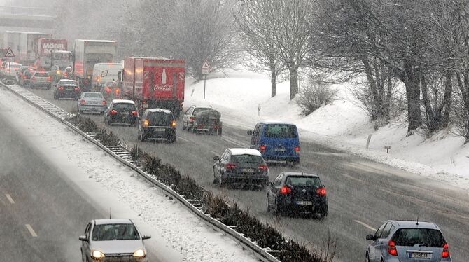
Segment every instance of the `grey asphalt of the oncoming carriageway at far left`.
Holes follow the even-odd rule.
[[[78,236],[106,214],[23,141],[0,114],[0,261],[81,261]]]

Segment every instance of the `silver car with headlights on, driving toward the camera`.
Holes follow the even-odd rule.
[[[94,219],[81,240],[81,258],[91,261],[148,261],[144,240],[130,219]]]

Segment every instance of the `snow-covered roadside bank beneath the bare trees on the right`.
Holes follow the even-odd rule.
[[[204,81],[193,83],[188,79],[186,105],[211,104],[221,111],[225,123],[248,129],[253,129],[258,120],[288,120],[300,128],[302,139],[469,188],[469,145],[464,145],[461,137],[450,130],[428,139],[423,132],[406,137],[405,123],[390,123],[375,131],[365,112],[354,103],[351,85],[335,87],[339,94],[332,104],[304,117],[295,100],[290,101],[288,81],[279,83],[276,97],[271,98],[267,74],[228,71],[209,75],[206,99]],[[372,138],[369,149],[365,149],[368,135]],[[389,153],[384,146],[391,146]]]

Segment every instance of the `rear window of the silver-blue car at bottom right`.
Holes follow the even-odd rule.
[[[443,247],[445,241],[440,230],[430,228],[401,228],[393,235],[398,246],[413,247],[423,244],[426,247]]]

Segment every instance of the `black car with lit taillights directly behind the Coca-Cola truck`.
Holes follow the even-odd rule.
[[[139,140],[176,141],[176,119],[165,109],[146,109],[139,120]]]

